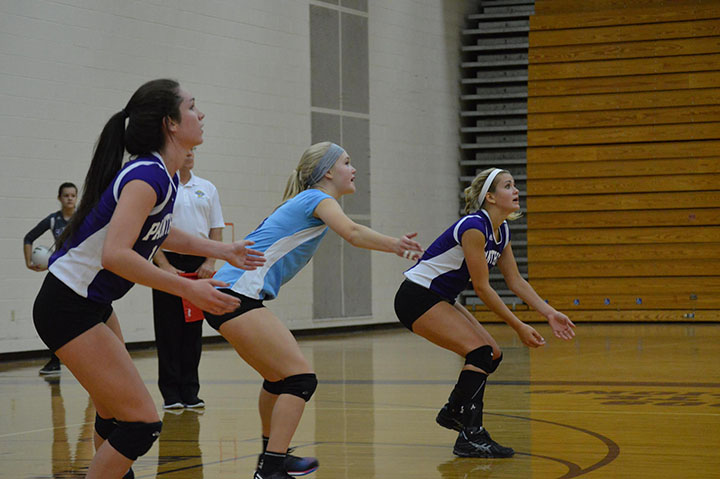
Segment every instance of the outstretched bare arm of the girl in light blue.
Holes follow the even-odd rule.
[[[358,248],[395,253],[411,260],[417,260],[422,255],[420,243],[413,239],[417,233],[408,233],[401,238],[378,233],[348,218],[338,202],[332,198],[322,200],[315,207],[315,216],[345,241]]]

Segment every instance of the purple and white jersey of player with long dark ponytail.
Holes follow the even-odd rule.
[[[132,249],[151,260],[170,232],[178,176],[170,177],[158,153],[127,162],[77,232],[50,257],[50,272],[84,298],[110,303],[121,298],[134,284],[103,269],[101,263],[103,243],[120,192],[133,180],[150,185],[155,190],[157,200]]]

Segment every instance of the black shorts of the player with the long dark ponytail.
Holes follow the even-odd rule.
[[[112,305],[83,298],[47,273],[35,298],[33,322],[40,339],[55,352],[96,324],[106,322],[112,311]]]

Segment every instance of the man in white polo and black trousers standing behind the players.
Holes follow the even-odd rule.
[[[172,226],[194,236],[222,241],[225,222],[217,189],[192,173],[195,151],[189,151],[178,170],[180,184],[173,209]],[[172,273],[197,273],[210,278],[215,259],[158,251],[154,262]],[[202,408],[198,397],[198,366],[202,352],[202,320],[186,317],[182,298],[153,289],[153,323],[158,352],[158,387],[164,409]],[[191,321],[188,321],[191,320]],[[200,317],[202,319],[202,316]]]

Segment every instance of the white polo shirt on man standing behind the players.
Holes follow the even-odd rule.
[[[212,228],[224,228],[220,197],[215,185],[195,176],[191,171],[188,182],[178,185],[172,226],[202,238],[208,238]]]

